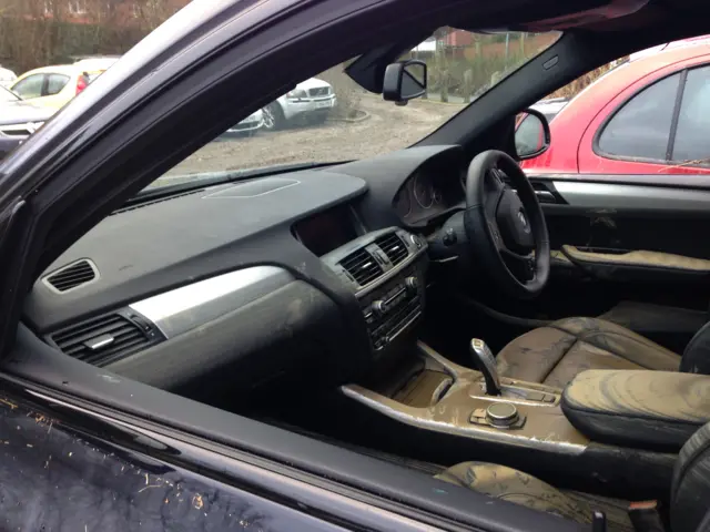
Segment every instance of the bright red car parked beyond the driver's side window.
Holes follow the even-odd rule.
[[[710,40],[638,54],[575,96],[550,122],[539,174],[710,173]]]

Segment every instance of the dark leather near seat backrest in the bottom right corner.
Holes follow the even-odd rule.
[[[673,532],[710,530],[710,423],[686,442],[678,456],[670,495]]]

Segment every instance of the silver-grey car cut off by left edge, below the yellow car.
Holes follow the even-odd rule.
[[[23,101],[0,86],[0,160],[39,130],[54,111]]]

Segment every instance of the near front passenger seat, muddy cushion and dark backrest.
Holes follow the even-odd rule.
[[[632,531],[628,503],[575,491],[561,491],[523,471],[486,462],[464,462],[435,478],[532,510],[581,524],[592,510],[607,515],[609,531]],[[632,493],[629,497],[632,498]],[[678,454],[670,487],[671,532],[710,530],[710,423],[698,429]]]

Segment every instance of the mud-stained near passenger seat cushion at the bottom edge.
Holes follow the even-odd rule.
[[[612,504],[609,499],[578,492],[568,494],[535,477],[505,466],[464,462],[440,472],[436,478],[582,524],[591,523],[592,510],[600,510],[607,514],[609,530],[632,530],[631,522],[622,510],[623,503]]]

